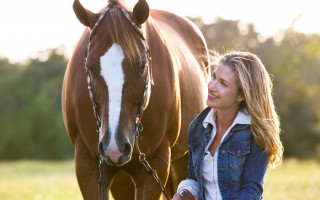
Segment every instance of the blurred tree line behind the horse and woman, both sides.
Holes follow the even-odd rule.
[[[192,19],[209,49],[248,50],[271,74],[281,120],[285,157],[320,158],[320,34],[289,28],[261,39],[252,24]],[[0,58],[0,160],[67,159],[73,146],[61,114],[61,87],[68,58],[58,49],[48,58],[12,64]]]

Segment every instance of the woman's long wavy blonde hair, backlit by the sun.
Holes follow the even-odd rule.
[[[270,76],[255,54],[229,51],[224,55],[212,52],[213,64],[231,67],[238,76],[238,86],[244,95],[245,107],[251,117],[251,130],[257,144],[270,156],[269,165],[275,167],[282,161],[283,146],[280,141],[280,122],[272,99]]]

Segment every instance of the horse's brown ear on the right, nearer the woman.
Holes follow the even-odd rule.
[[[133,8],[133,19],[138,25],[143,24],[149,17],[149,5],[146,0],[139,0]]]

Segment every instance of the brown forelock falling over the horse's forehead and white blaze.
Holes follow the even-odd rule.
[[[111,1],[112,2],[112,1]],[[110,6],[106,15],[106,34],[112,42],[119,44],[130,63],[140,62],[141,53],[136,42],[138,34],[120,11],[118,6]]]

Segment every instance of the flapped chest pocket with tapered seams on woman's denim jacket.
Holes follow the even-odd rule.
[[[247,155],[250,153],[250,141],[244,141],[237,144],[230,144],[228,149],[228,159],[230,164],[230,173],[235,185],[235,191],[240,189],[243,167]]]

